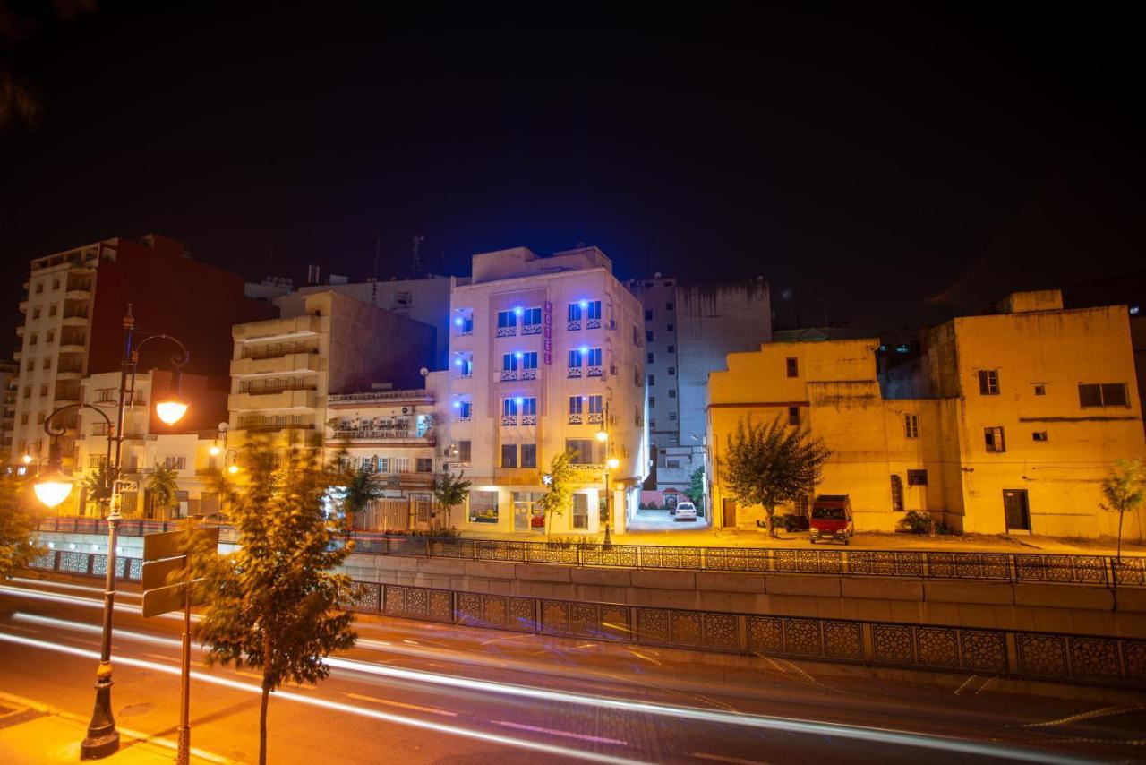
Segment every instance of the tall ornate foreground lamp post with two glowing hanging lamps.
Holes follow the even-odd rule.
[[[48,507],[55,507],[68,498],[74,478],[63,471],[62,450],[57,438],[65,431],[64,426],[53,424],[53,420],[62,412],[70,409],[92,409],[97,412],[108,426],[108,470],[104,490],[111,498],[111,510],[108,513],[108,571],[103,591],[103,640],[100,647],[100,666],[95,672],[95,709],[92,721],[87,726],[87,737],[80,744],[80,759],[100,759],[115,754],[119,749],[119,732],[111,713],[111,615],[116,602],[116,544],[119,533],[119,505],[121,499],[120,465],[124,445],[124,419],[128,398],[135,393],[135,373],[139,368],[140,349],[152,339],[170,339],[179,346],[180,353],[172,357],[175,374],[172,377],[171,390],[156,403],[156,414],[168,426],[174,424],[187,412],[187,401],[180,393],[179,384],[182,368],[190,360],[187,346],[179,339],[165,334],[143,334],[138,345],[133,345],[135,319],[132,306],[127,304],[124,317],[124,356],[119,367],[119,403],[116,408],[116,422],[105,412],[91,404],[70,404],[60,407],[44,421],[44,430],[50,437],[48,468],[42,471],[33,485],[37,498]],[[112,444],[115,450],[112,451]]]

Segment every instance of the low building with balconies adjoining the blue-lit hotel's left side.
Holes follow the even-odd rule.
[[[352,470],[366,468],[384,484],[384,497],[356,517],[353,528],[393,531],[449,528],[450,508],[434,506],[438,459],[438,420],[433,373],[426,388],[393,390],[375,385],[358,393],[335,393],[327,399],[325,445],[329,460],[339,459]],[[444,459],[450,459],[445,450]],[[453,455],[457,460],[470,455]]]

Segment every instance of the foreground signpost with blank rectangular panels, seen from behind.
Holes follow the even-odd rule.
[[[212,549],[219,547],[219,526],[199,528],[198,518],[188,524],[205,536]],[[143,616],[159,616],[183,609],[183,656],[179,685],[179,755],[180,765],[190,762],[191,726],[191,588],[187,580],[187,536],[182,531],[143,534]],[[180,573],[181,572],[181,573]]]

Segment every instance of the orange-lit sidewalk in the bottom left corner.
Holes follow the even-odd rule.
[[[139,765],[175,762],[174,739],[156,739],[119,727],[119,751],[100,760]],[[0,692],[0,752],[6,765],[78,763],[87,720],[39,702]],[[191,763],[230,765],[235,760],[191,748]]]

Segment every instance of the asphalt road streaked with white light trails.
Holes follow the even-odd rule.
[[[174,737],[180,618],[121,592],[113,709]],[[0,690],[89,715],[100,590],[0,585]],[[783,659],[722,657],[370,618],[317,686],[275,693],[272,763],[1094,762],[1146,752],[1146,695],[1118,704],[1007,696]],[[258,755],[259,674],[193,657],[196,748]]]

